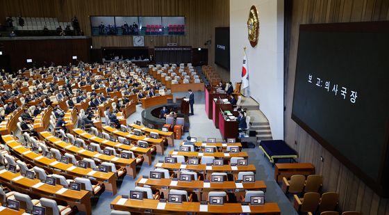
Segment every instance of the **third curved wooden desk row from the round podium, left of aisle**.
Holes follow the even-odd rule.
[[[79,136],[85,141],[88,141],[89,143],[97,143],[101,146],[109,146],[112,148],[116,148],[117,150],[129,150],[131,152],[134,152],[134,154],[138,154],[144,158],[144,161],[151,165],[151,148],[140,148],[136,147],[135,145],[125,145],[122,143],[116,143],[113,141],[108,141],[104,138],[99,138],[97,136],[94,136],[92,134],[88,134],[87,132],[81,130],[81,129],[73,129],[74,134]],[[103,150],[104,148],[101,148]]]

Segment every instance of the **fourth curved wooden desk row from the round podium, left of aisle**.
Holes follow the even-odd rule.
[[[63,141],[60,141],[60,139],[56,138],[55,136],[52,136],[49,132],[41,132],[40,136],[44,138],[44,141],[47,141],[47,143],[51,143],[51,145],[55,146],[59,150],[62,150],[64,152],[70,152],[71,154],[74,154],[74,156],[76,157],[85,157],[90,159],[98,158],[101,161],[111,162],[117,166],[126,168],[127,175],[130,175],[133,178],[136,177],[135,159],[123,159],[123,158],[115,157],[113,155],[108,156],[106,154],[101,154],[99,152],[90,152],[83,148],[78,148],[70,143],[65,143]]]

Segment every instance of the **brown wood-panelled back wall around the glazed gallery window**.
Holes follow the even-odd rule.
[[[76,15],[85,35],[90,35],[90,15],[185,16],[185,36],[145,36],[145,46],[177,42],[180,46],[208,48],[208,63],[213,64],[215,27],[229,26],[229,0],[1,0],[0,14],[1,20],[22,15],[58,17],[59,22],[71,22]],[[212,44],[206,47],[208,39]],[[132,47],[133,40],[131,36],[93,37],[92,44],[94,48]]]

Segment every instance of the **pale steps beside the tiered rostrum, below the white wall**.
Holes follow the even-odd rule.
[[[251,121],[250,131],[256,131],[256,142],[272,140],[269,120],[260,111],[259,104],[251,97],[242,97],[240,106],[242,109],[247,109],[247,116],[250,116]]]

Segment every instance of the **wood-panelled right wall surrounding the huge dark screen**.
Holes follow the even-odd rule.
[[[287,0],[288,1],[288,0]],[[304,129],[290,118],[292,112],[299,24],[331,22],[369,22],[389,19],[388,0],[294,0],[288,69],[285,70],[285,141],[299,152],[299,161],[311,162],[316,172],[324,175],[324,190],[339,193],[342,210],[357,210],[366,214],[389,214],[389,201],[380,198],[338,159],[322,148]],[[289,52],[288,52],[289,51]],[[307,110],[309,111],[309,110]],[[295,141],[297,145],[295,145]],[[320,161],[320,157],[324,161]],[[361,159],[363,159],[361,157]]]

